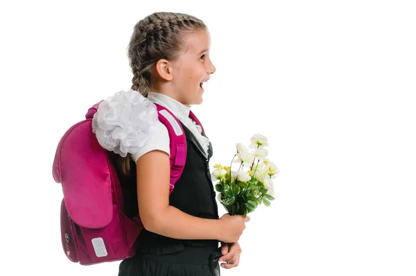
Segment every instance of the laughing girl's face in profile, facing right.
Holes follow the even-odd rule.
[[[209,32],[202,30],[188,35],[184,45],[184,52],[173,62],[175,98],[184,105],[198,105],[202,103],[203,83],[216,71],[209,58]]]

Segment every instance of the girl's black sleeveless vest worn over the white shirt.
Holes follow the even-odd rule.
[[[212,145],[209,144],[207,158],[196,137],[183,124],[182,128],[187,137],[187,162],[181,178],[176,182],[175,189],[171,193],[169,205],[191,216],[218,219],[216,193],[209,170],[209,159],[213,154]],[[135,164],[132,164],[132,173],[130,175],[130,181],[121,180],[121,183],[125,203],[133,207],[130,209],[130,216],[134,216],[134,214],[137,214],[134,210],[138,209],[136,182],[134,181],[133,184],[133,178],[136,177]],[[129,183],[123,183],[123,181]],[[125,184],[130,189],[125,189],[124,187],[127,186]],[[134,189],[132,189],[132,186],[134,186]],[[139,252],[152,254],[177,252],[190,245],[218,245],[218,241],[171,239],[153,232],[148,232],[146,229],[141,232],[137,242],[139,243]]]

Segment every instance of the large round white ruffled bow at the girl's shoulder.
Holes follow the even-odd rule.
[[[129,89],[100,103],[92,119],[92,131],[103,148],[125,157],[146,144],[157,120],[156,106]]]

